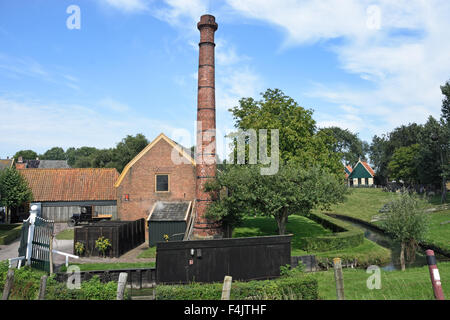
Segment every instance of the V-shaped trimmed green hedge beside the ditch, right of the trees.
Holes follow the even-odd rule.
[[[346,222],[322,213],[310,213],[308,218],[332,230],[333,234],[302,238],[302,250],[308,252],[341,250],[359,246],[364,242],[364,232]]]

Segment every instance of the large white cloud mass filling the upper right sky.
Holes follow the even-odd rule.
[[[347,126],[379,134],[400,124],[423,123],[430,114],[439,116],[442,100],[439,86],[450,77],[448,1],[228,0],[227,3],[237,14],[284,30],[283,47],[321,42],[337,55],[342,70],[360,76],[364,85],[357,88],[345,82],[326,83],[324,79],[322,84],[305,90],[310,97],[357,108],[363,126]],[[379,29],[368,28],[371,17],[367,8],[373,5],[381,13]],[[330,42],[331,39],[339,41]],[[320,110],[316,115],[321,115]],[[323,116],[326,118],[325,113]],[[342,118],[339,122],[346,120]]]

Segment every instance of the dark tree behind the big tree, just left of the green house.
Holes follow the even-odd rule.
[[[335,139],[332,150],[341,154],[341,160],[346,165],[353,167],[358,163],[359,159],[367,160],[366,154],[369,151],[369,144],[359,139],[358,134],[339,127],[323,128],[320,131],[331,135]]]

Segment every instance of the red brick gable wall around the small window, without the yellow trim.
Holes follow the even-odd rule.
[[[128,170],[117,188],[120,220],[147,219],[153,204],[159,200],[195,199],[195,167],[191,163],[174,164],[171,153],[172,146],[160,139]],[[155,174],[169,175],[169,192],[155,192]],[[129,195],[128,201],[125,194]]]

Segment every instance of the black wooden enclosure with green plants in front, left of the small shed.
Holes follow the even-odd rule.
[[[145,242],[145,220],[136,221],[99,221],[93,224],[75,227],[75,244],[83,243],[84,256],[99,256],[101,253],[95,247],[95,241],[104,237],[109,240],[111,247],[106,251],[107,257],[119,257]]]

